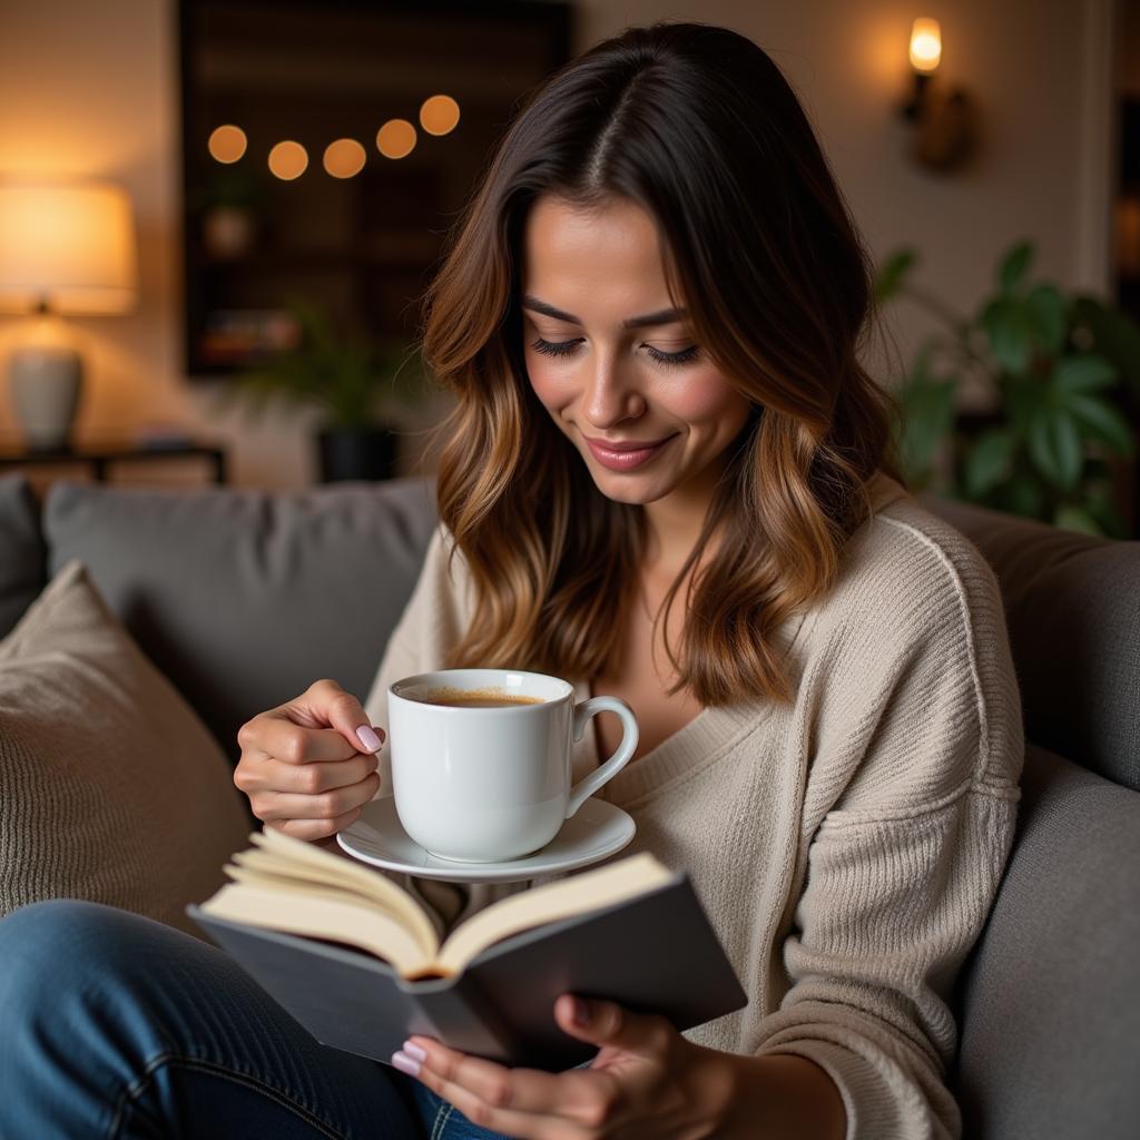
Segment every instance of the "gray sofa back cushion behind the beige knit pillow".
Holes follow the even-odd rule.
[[[314,681],[365,699],[434,526],[423,479],[194,494],[60,481],[43,504],[50,572],[83,560],[231,760],[245,720]]]

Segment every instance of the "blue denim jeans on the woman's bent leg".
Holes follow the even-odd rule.
[[[0,1137],[500,1133],[390,1065],[321,1045],[215,946],[52,899],[0,919]]]

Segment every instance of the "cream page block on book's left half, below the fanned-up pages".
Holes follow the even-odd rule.
[[[396,919],[364,901],[349,901],[343,894],[336,897],[320,890],[231,882],[202,903],[199,910],[231,922],[349,943],[383,959],[404,977],[414,977],[433,964]]]

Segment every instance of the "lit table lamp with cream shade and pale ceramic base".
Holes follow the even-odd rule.
[[[0,310],[33,312],[8,361],[13,412],[33,450],[70,446],[83,361],[63,316],[135,307],[127,194],[106,182],[0,182]]]

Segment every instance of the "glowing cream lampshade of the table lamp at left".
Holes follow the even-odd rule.
[[[0,182],[0,307],[127,312],[136,300],[131,203],[116,186]]]

